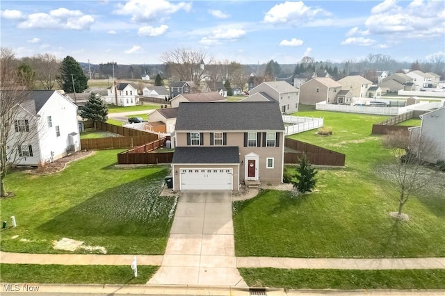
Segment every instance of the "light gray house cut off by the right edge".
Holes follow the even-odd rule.
[[[420,115],[421,126],[409,128],[412,142],[422,142],[427,145],[424,151],[412,147],[423,161],[437,163],[445,161],[445,106]],[[420,139],[420,140],[419,140]]]

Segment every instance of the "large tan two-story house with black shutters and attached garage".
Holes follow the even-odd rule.
[[[276,101],[181,103],[172,139],[173,190],[282,182],[284,124]]]

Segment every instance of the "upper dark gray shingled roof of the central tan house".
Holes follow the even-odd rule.
[[[176,131],[284,131],[277,101],[181,102]]]

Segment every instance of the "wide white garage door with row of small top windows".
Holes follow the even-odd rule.
[[[180,190],[232,190],[232,168],[187,168],[180,172]]]

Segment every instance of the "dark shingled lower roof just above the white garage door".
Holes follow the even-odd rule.
[[[238,147],[175,147],[172,163],[239,163]]]

